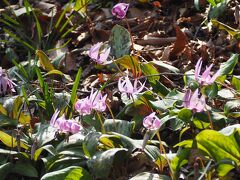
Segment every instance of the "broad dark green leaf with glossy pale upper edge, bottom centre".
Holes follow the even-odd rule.
[[[92,159],[87,162],[90,172],[98,179],[107,179],[114,166],[121,166],[128,150],[125,148],[113,148],[104,152],[96,153]]]

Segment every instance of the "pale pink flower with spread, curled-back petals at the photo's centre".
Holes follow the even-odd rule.
[[[121,77],[118,80],[118,89],[121,93],[126,93],[127,95],[134,95],[140,93],[144,88],[145,83],[141,83],[137,79],[134,80],[132,84],[130,79],[127,77]]]

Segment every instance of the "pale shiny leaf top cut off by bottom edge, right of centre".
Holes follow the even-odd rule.
[[[142,172],[140,174],[137,174],[136,176],[132,177],[129,180],[170,180],[171,178],[166,175],[161,174],[154,174],[150,172]]]

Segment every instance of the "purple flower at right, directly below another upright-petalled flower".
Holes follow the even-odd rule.
[[[194,93],[188,89],[183,97],[183,106],[194,112],[202,112],[206,106],[205,97],[198,97],[198,89]]]

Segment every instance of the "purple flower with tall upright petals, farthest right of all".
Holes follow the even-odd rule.
[[[211,77],[211,69],[213,67],[213,64],[211,64],[209,67],[205,69],[202,75],[200,75],[200,71],[202,68],[202,59],[200,58],[196,64],[195,67],[195,80],[198,81],[200,85],[210,85],[212,84],[217,77],[220,75],[220,70],[218,70],[212,77]]]

